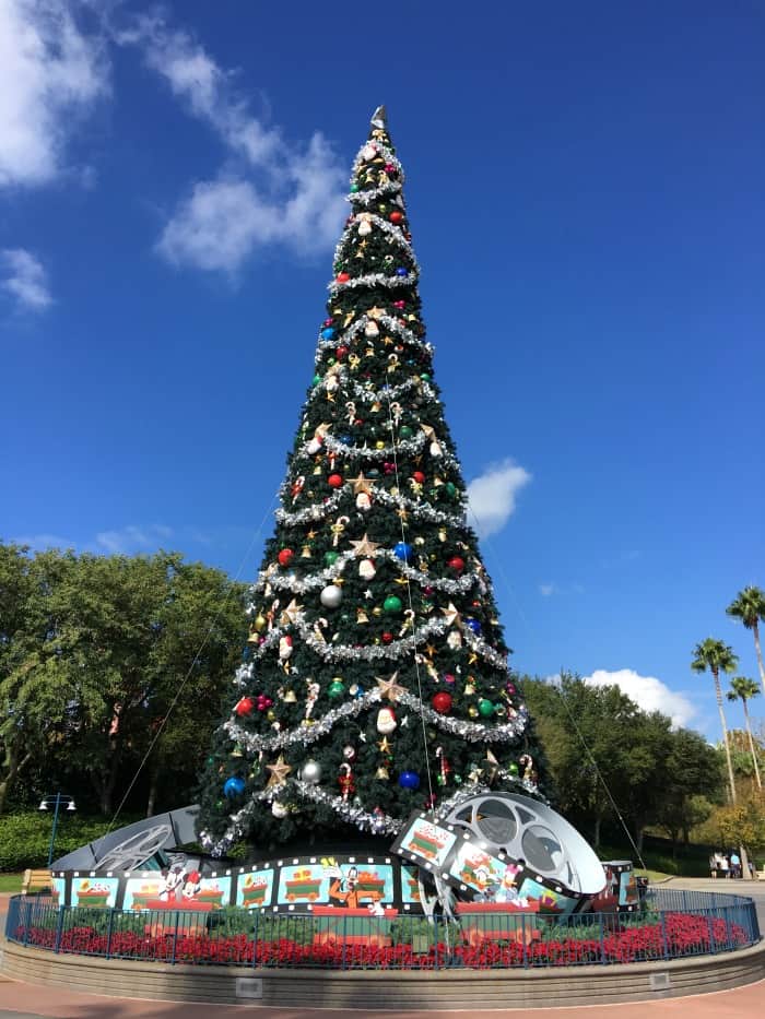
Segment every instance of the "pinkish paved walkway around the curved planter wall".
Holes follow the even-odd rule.
[[[674,879],[672,887],[687,887],[711,891],[727,891],[718,881]],[[735,891],[752,896],[762,909],[765,904],[765,882],[737,881]],[[730,890],[733,890],[732,887]],[[8,896],[0,896],[0,923],[4,929]],[[760,911],[760,910],[758,910]],[[762,915],[762,914],[761,914]],[[762,921],[761,921],[762,922]],[[396,980],[393,973],[391,981]],[[765,1004],[765,981],[721,991],[716,994],[691,995],[682,998],[640,1002],[635,1005],[592,1005],[579,1008],[514,1008],[495,1011],[469,1011],[471,1019],[761,1019]],[[98,995],[40,987],[9,981],[0,974],[0,1019],[234,1019],[252,1005],[190,1005],[175,1002],[142,1002],[134,998],[109,998]],[[262,1019],[449,1019],[454,1011],[393,1012],[339,1011],[334,1009],[284,1009],[258,1007]]]

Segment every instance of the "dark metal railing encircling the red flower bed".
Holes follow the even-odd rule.
[[[760,940],[743,896],[649,889],[628,914],[473,913],[459,923],[227,909],[126,912],[14,896],[5,935],[54,952],[216,965],[449,969],[609,964],[718,953]]]

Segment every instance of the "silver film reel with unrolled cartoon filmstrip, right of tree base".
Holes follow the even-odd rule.
[[[444,814],[412,815],[392,851],[457,898],[487,910],[573,913],[603,891],[603,866],[579,832],[543,803],[483,793]]]

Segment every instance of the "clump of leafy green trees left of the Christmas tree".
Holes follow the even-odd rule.
[[[165,786],[176,803],[245,639],[244,588],[174,553],[0,546],[0,597],[15,606],[0,643],[2,794],[26,770],[76,783],[78,798],[90,783],[110,814],[149,755],[150,811]]]

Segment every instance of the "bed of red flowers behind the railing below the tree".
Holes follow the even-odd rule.
[[[140,914],[138,914],[140,916]],[[134,917],[133,917],[134,919]],[[605,919],[603,917],[603,921]],[[122,959],[242,964],[249,967],[299,967],[326,969],[429,970],[450,967],[472,969],[511,967],[558,967],[586,963],[637,962],[731,950],[751,944],[744,927],[719,917],[668,912],[645,922],[623,924],[610,919],[589,917],[585,926],[538,926],[538,939],[486,940],[468,945],[458,927],[443,924],[431,928],[435,944],[417,944],[417,937],[399,943],[321,944],[313,940],[315,921],[309,915],[291,915],[281,923],[271,917],[249,917],[251,933],[226,933],[177,925],[143,924],[143,929],[97,929],[93,925],[17,924],[11,938],[37,948]],[[258,927],[264,929],[258,929]],[[427,940],[427,939],[426,939]],[[416,950],[415,950],[416,947]]]

